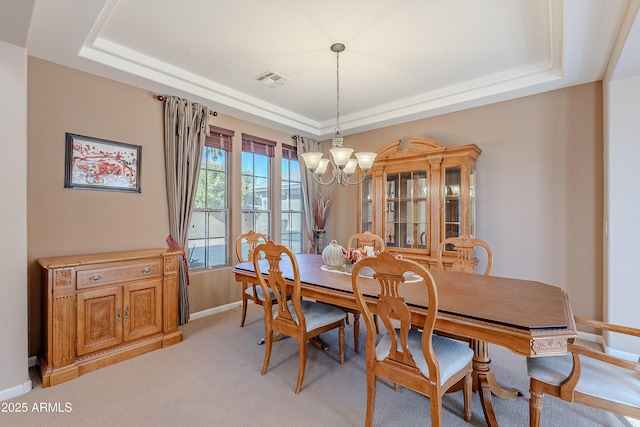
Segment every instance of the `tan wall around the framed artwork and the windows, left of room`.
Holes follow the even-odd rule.
[[[167,247],[163,106],[156,94],[29,57],[28,266],[29,354],[40,348],[40,272],[45,256]],[[220,115],[210,123],[236,132],[232,168],[240,169],[242,133],[291,143],[290,135]],[[65,133],[142,146],[140,194],[64,188]],[[279,155],[279,154],[278,154]],[[274,170],[279,177],[280,171]],[[238,189],[240,179],[232,182]],[[276,189],[277,191],[278,189]],[[233,190],[232,190],[233,191]],[[274,194],[279,200],[279,193]],[[240,198],[232,197],[233,212]],[[239,215],[236,216],[239,218]],[[278,218],[274,214],[274,218]],[[273,232],[279,233],[279,223]],[[240,234],[233,222],[231,236]],[[230,259],[235,254],[230,252]],[[240,299],[230,268],[192,272],[191,312]]]

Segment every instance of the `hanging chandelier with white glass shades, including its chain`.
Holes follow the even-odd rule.
[[[360,184],[364,180],[364,175],[371,169],[376,153],[363,152],[355,153],[356,158],[351,157],[352,148],[343,146],[343,138],[340,134],[340,52],[345,49],[344,44],[335,43],[331,45],[331,51],[336,53],[336,132],[331,142],[332,149],[329,159],[323,159],[321,152],[309,152],[301,154],[304,164],[313,174],[313,179],[321,185],[331,185],[334,182],[346,187],[347,185]],[[322,180],[322,175],[327,171],[331,163],[333,177],[330,181]],[[355,182],[349,180],[356,168],[360,166],[363,177]]]

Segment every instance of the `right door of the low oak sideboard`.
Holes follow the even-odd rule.
[[[162,330],[162,282],[150,280],[124,287],[124,340]]]

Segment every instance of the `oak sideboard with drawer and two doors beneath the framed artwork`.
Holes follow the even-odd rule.
[[[148,249],[39,259],[42,386],[182,341],[179,255]]]

